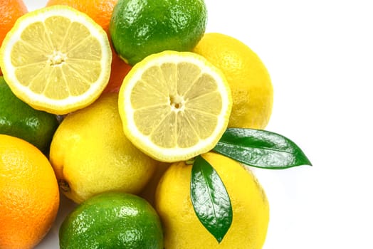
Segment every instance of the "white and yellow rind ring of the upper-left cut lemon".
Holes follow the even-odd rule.
[[[102,51],[102,58],[100,64],[103,66],[102,73],[98,80],[90,85],[90,88],[83,95],[72,96],[63,100],[52,100],[44,95],[36,94],[27,87],[21,85],[16,78],[15,70],[11,65],[11,48],[21,39],[22,31],[31,23],[36,21],[45,21],[51,16],[64,16],[71,21],[78,21],[88,27],[91,36],[95,37],[100,43]],[[36,110],[44,110],[54,114],[66,114],[74,110],[86,107],[94,102],[103,92],[110,78],[112,61],[112,51],[110,49],[110,42],[107,38],[107,33],[103,28],[95,23],[88,15],[77,11],[69,6],[50,6],[36,11],[29,12],[17,19],[14,27],[7,33],[4,38],[3,45],[0,48],[0,67],[2,69],[4,79],[8,83],[12,92],[24,102],[31,105]]]

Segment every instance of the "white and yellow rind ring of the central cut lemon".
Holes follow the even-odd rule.
[[[137,81],[142,77],[142,73],[144,73],[146,68],[153,65],[162,65],[162,63],[166,62],[185,62],[185,58],[188,58],[188,61],[196,63],[196,65],[201,68],[201,73],[208,73],[214,79],[216,79],[219,92],[223,94],[221,114],[218,116],[216,128],[211,136],[207,139],[200,139],[198,144],[188,148],[174,147],[168,149],[158,147],[149,140],[148,136],[145,136],[137,129],[133,119],[134,110],[131,108],[130,93]],[[120,108],[123,129],[131,142],[141,149],[142,152],[145,152],[145,154],[148,154],[154,159],[159,161],[174,162],[191,159],[199,154],[209,152],[214,148],[215,144],[219,141],[228,125],[232,99],[231,90],[223,73],[221,73],[219,69],[215,68],[214,65],[209,63],[206,59],[202,58],[201,55],[191,52],[164,51],[147,56],[147,58],[142,60],[140,63],[137,63],[132,68],[130,73],[125,77],[125,80],[123,80],[122,88],[120,88],[119,105],[120,107],[121,105],[123,107]]]

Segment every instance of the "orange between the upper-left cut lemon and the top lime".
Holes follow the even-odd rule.
[[[112,15],[112,10],[118,0],[49,0],[46,6],[52,6],[57,4],[68,5],[81,11],[93,21],[98,23],[106,31],[107,36],[109,35],[109,23]],[[115,52],[112,47],[111,41],[110,46],[112,48],[112,65],[109,83],[103,92],[119,92],[120,85],[125,78],[125,75],[130,71],[131,66],[125,63]]]

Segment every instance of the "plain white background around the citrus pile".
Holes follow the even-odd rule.
[[[25,0],[32,11],[46,1]],[[265,249],[373,248],[373,14],[369,1],[206,0],[207,31],[246,43],[273,80],[266,128],[313,166],[253,169],[270,201]],[[58,248],[61,213],[38,245]],[[248,248],[250,249],[250,248]]]

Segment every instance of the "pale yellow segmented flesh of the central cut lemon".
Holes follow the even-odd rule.
[[[168,63],[146,70],[132,90],[131,103],[140,132],[165,148],[191,147],[209,137],[222,105],[214,79],[187,63]]]

